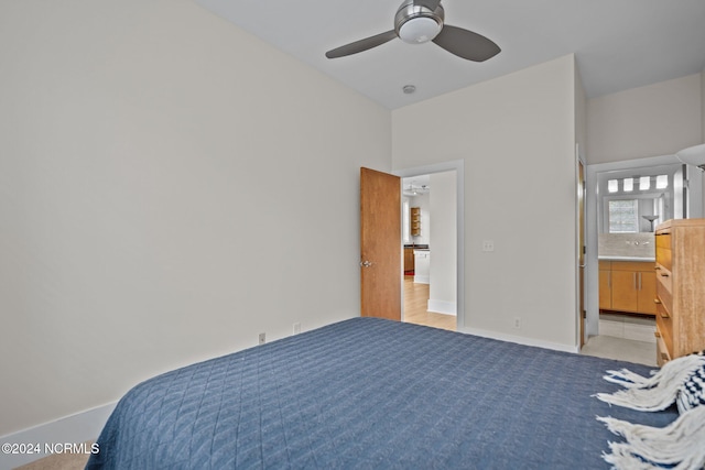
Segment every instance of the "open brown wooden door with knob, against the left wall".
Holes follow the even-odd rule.
[[[360,168],[360,315],[401,320],[401,178]]]

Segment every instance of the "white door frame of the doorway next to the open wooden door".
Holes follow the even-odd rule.
[[[434,163],[423,166],[414,166],[411,168],[394,170],[392,175],[397,175],[401,178],[409,178],[413,176],[430,175],[434,173],[455,172],[455,196],[456,196],[456,329],[463,331],[465,329],[465,161],[454,160],[451,162]],[[433,188],[432,188],[433,190]],[[403,187],[402,187],[403,192]],[[403,204],[403,198],[402,203]],[[403,240],[400,233],[400,241]],[[403,250],[403,243],[401,243],[400,250]],[[403,270],[402,270],[403,275]],[[402,320],[404,318],[404,285],[402,283],[401,292],[399,293],[402,299]]]

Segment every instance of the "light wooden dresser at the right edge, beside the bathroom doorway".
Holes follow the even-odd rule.
[[[705,349],[705,219],[657,227],[657,362]]]

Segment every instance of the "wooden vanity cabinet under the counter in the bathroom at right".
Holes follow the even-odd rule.
[[[655,315],[655,273],[652,262],[600,261],[599,308]]]

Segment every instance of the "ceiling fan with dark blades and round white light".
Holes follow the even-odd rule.
[[[474,62],[484,62],[499,54],[497,44],[487,37],[462,28],[444,24],[441,0],[404,0],[394,15],[394,29],[334,48],[326,57],[357,54],[399,37],[410,44],[433,41],[451,54]]]

